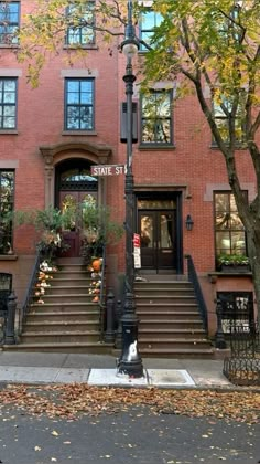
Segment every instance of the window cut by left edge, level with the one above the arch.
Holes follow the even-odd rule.
[[[0,78],[0,130],[17,127],[17,78]]]

